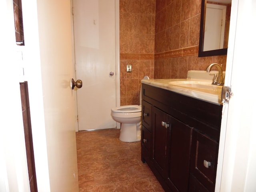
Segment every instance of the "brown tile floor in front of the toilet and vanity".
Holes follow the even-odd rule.
[[[140,159],[140,142],[122,142],[119,133],[76,132],[79,191],[164,192]]]

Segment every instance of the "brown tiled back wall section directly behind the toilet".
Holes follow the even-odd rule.
[[[155,8],[155,0],[120,0],[120,105],[139,104],[140,80],[154,78]]]

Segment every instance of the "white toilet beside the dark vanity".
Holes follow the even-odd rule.
[[[143,79],[149,79],[145,76]],[[119,139],[124,142],[140,141],[141,138],[141,99],[142,88],[140,87],[140,105],[125,105],[111,109],[111,116],[121,123]]]

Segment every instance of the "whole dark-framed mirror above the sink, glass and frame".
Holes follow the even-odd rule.
[[[225,55],[232,0],[202,0],[198,57]]]

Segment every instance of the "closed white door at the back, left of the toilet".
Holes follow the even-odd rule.
[[[116,106],[115,0],[74,0],[78,129],[115,128]],[[114,74],[111,76],[110,72]]]

